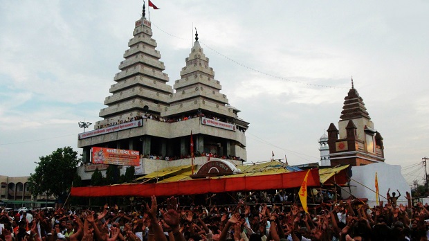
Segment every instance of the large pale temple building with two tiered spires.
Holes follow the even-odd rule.
[[[151,22],[139,19],[104,100],[104,109],[93,131],[79,134],[84,163],[91,161],[91,148],[116,148],[140,153],[136,175],[145,175],[170,166],[190,164],[191,133],[194,163],[208,157],[246,161],[246,135],[249,123],[239,118],[215,71],[203,52],[196,34],[190,54],[174,86],[167,84],[161,53],[152,38]],[[100,170],[103,166],[98,167]],[[86,168],[92,172],[94,168]],[[105,169],[105,168],[104,168]],[[90,173],[80,171],[82,179]]]

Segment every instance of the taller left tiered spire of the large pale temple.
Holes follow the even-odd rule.
[[[125,60],[120,62],[120,72],[116,73],[116,84],[109,89],[111,96],[104,100],[107,108],[101,109],[95,128],[111,123],[120,123],[145,112],[160,115],[168,106],[172,87],[166,84],[168,75],[163,73],[164,63],[156,51],[156,41],[152,39],[151,22],[144,17],[136,21],[134,37],[129,40]]]

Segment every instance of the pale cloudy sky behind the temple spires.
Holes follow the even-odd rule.
[[[318,161],[318,139],[338,126],[352,75],[386,163],[406,168],[429,156],[428,1],[153,3],[169,83],[197,27],[221,93],[250,122],[248,161],[272,151],[290,164]],[[142,4],[2,1],[0,175],[29,175],[39,157],[64,146],[81,152],[77,123],[100,120]],[[408,181],[423,178],[422,168],[407,170]]]

